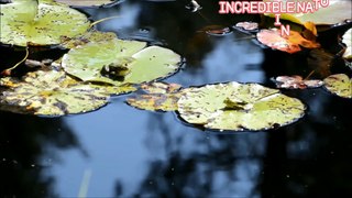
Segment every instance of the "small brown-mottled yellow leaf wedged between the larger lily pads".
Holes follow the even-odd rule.
[[[127,102],[135,108],[151,111],[175,111],[177,101],[183,96],[180,85],[153,82],[143,84],[141,88],[147,92],[128,98]]]

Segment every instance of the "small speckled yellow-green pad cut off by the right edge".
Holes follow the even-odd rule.
[[[345,74],[336,74],[323,79],[324,87],[342,98],[352,98],[352,78]]]

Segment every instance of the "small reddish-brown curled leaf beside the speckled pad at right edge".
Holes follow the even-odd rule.
[[[277,88],[286,89],[306,89],[322,86],[321,80],[306,80],[300,76],[278,76],[274,80]]]

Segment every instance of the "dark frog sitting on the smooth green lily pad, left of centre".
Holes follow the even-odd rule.
[[[121,57],[116,62],[102,66],[100,74],[113,80],[123,81],[124,77],[131,73],[129,66],[134,62],[133,57]]]

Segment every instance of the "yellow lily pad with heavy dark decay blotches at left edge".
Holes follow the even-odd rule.
[[[38,116],[63,116],[96,110],[107,105],[109,95],[100,86],[85,85],[64,72],[34,72],[22,80],[0,79],[6,90],[0,95],[0,109]]]

